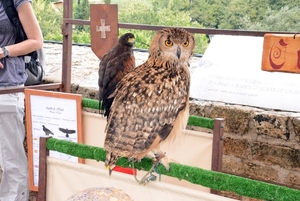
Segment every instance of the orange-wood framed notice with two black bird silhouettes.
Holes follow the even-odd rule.
[[[43,135],[54,136],[82,143],[82,96],[79,94],[34,89],[25,89],[24,92],[26,104],[29,189],[38,191],[40,163],[39,146],[41,146],[39,138]],[[51,132],[47,130],[47,127],[51,128],[49,129]],[[70,157],[60,153],[52,152],[52,155],[73,162],[83,162],[83,159]]]

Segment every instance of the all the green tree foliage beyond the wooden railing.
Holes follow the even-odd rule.
[[[89,1],[73,0],[73,16],[89,19]],[[78,3],[80,4],[78,5]],[[300,0],[105,0],[118,4],[120,23],[216,29],[299,31]],[[45,40],[62,40],[62,9],[55,11],[49,0],[33,1]],[[154,31],[132,32],[136,48],[148,49]],[[73,42],[90,43],[88,26],[76,25]],[[203,53],[209,39],[196,34],[196,52]]]

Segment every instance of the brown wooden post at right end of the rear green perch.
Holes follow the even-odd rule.
[[[224,127],[225,122],[223,118],[214,119],[211,170],[218,172],[222,171]],[[220,194],[219,191],[214,189],[211,189],[210,192],[213,194]]]

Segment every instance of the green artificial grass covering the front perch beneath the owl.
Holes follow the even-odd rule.
[[[103,148],[55,138],[49,138],[46,146],[49,150],[75,157],[105,161],[106,151]],[[117,161],[117,165],[121,167],[131,167],[132,162],[127,158],[120,158]],[[148,171],[152,167],[152,160],[150,158],[144,158],[140,163],[135,163],[134,167],[138,170]],[[164,166],[159,164],[157,172],[162,175],[178,178],[179,180],[186,180],[193,184],[219,191],[234,192],[250,198],[274,201],[296,201],[300,198],[300,191],[297,189],[178,163],[170,163],[170,171],[166,171]]]

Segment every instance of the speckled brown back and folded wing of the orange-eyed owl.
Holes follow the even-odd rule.
[[[157,137],[163,141],[170,135],[187,106],[189,76],[169,73],[143,64],[118,84],[106,126],[107,151],[135,157],[150,151]]]

